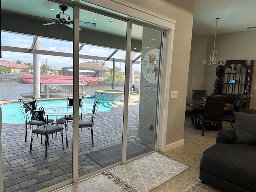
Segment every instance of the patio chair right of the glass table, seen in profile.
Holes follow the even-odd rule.
[[[94,127],[94,119],[96,116],[96,112],[98,110],[98,106],[100,105],[100,101],[96,99],[94,101],[93,107],[92,107],[92,116],[90,120],[79,120],[78,121],[78,127],[83,130],[83,127],[87,127],[91,132],[92,137],[92,146],[93,146],[93,127]]]

